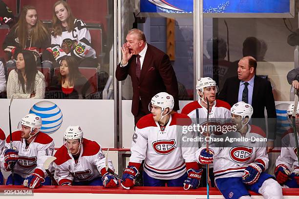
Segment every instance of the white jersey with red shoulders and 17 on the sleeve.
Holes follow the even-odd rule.
[[[13,147],[16,147],[19,159],[14,166],[14,172],[22,178],[26,178],[29,174],[37,173],[43,178],[47,173],[43,169],[44,161],[54,154],[54,140],[45,133],[39,132],[35,139],[26,148],[25,139],[21,138],[21,131],[12,133]],[[4,152],[10,148],[10,137],[6,138],[4,150],[0,156],[0,164],[4,167]],[[49,169],[53,170],[52,166]]]

